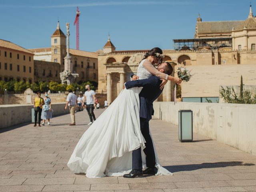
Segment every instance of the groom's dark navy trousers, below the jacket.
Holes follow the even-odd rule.
[[[146,155],[146,166],[154,168],[156,165],[156,157],[147,119],[140,118],[140,130],[146,140],[146,148],[143,150]],[[132,151],[132,169],[142,169],[141,148]]]

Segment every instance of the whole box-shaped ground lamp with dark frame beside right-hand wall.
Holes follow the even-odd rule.
[[[192,110],[179,110],[179,140],[193,141],[193,112]]]

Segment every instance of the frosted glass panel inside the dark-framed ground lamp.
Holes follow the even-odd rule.
[[[192,140],[192,112],[182,112],[182,140]]]

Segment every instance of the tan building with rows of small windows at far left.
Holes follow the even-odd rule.
[[[34,54],[21,46],[0,40],[0,80],[34,82]]]

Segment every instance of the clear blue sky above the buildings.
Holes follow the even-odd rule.
[[[102,49],[110,33],[116,50],[160,47],[172,49],[172,39],[193,38],[196,18],[203,21],[245,20],[256,14],[256,0],[0,0],[0,39],[24,48],[50,47],[60,20],[70,48],[76,48],[73,26],[80,15],[80,50]]]

